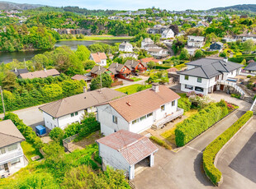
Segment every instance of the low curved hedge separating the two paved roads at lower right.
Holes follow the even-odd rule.
[[[235,133],[239,131],[239,129],[243,127],[246,122],[248,122],[249,118],[252,116],[252,111],[244,113],[244,115],[239,118],[239,120],[237,120],[231,127],[229,127],[214,141],[212,141],[210,145],[207,145],[206,150],[204,150],[202,154],[203,168],[206,175],[215,185],[217,185],[221,179],[220,170],[214,166],[214,159],[216,158],[216,154],[220,151],[223,145],[225,145],[225,143],[229,141],[230,138],[234,136]]]

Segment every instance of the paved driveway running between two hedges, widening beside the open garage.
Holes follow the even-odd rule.
[[[240,108],[216,123],[215,126],[211,127],[201,136],[198,136],[197,139],[183,147],[178,153],[159,147],[159,151],[155,155],[154,167],[145,169],[144,172],[136,175],[132,181],[136,188],[216,188],[203,172],[202,152],[211,141],[237,121],[250,108],[251,104],[237,99],[234,99],[233,102],[233,98],[230,95],[223,93],[214,94],[211,98],[216,99],[216,101],[218,99],[225,99],[238,104]],[[243,178],[240,181],[242,180]],[[233,185],[233,187],[228,187],[229,183],[226,183],[226,186],[223,185],[221,188],[246,188],[244,187],[244,182],[239,182],[238,184],[236,187]]]

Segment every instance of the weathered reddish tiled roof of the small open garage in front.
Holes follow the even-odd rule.
[[[97,140],[97,143],[119,151],[129,164],[137,164],[159,150],[146,136],[126,130],[116,131]]]

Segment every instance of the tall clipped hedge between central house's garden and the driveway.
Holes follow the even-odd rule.
[[[211,104],[192,117],[178,123],[175,129],[176,145],[186,145],[187,142],[192,141],[192,139],[199,136],[203,131],[206,131],[228,113],[229,111],[225,102],[220,101],[220,103]]]

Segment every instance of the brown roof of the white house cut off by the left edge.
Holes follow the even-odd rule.
[[[0,122],[0,148],[21,141],[25,138],[10,119]]]

